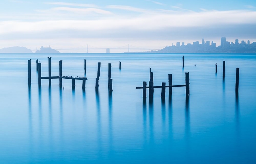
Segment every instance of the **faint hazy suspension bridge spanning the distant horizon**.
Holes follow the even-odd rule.
[[[75,47],[75,48],[60,48],[60,47],[52,46],[52,48],[54,48],[55,50],[86,50],[86,53],[88,53],[88,50],[100,50],[100,49],[105,49],[106,53],[110,53],[111,49],[112,50],[113,49],[128,50],[128,52],[130,52],[130,50],[160,50],[164,47],[166,47],[166,46],[158,47],[158,48],[141,48],[141,47],[132,46],[130,44],[127,44],[127,45],[122,46],[122,47],[115,47],[115,48],[95,47],[95,46],[91,46],[91,45],[88,45],[88,44],[80,46],[80,47]],[[33,51],[35,51],[35,50],[33,50]]]

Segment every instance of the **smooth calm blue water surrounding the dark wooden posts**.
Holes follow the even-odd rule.
[[[35,59],[42,76],[84,76],[76,80],[42,80],[38,88]],[[0,55],[0,163],[256,163],[256,55],[61,54]],[[28,87],[27,60],[32,59]],[[119,60],[122,70],[119,70]],[[226,61],[225,80],[222,79]],[[97,63],[99,91],[95,92]],[[108,63],[113,93],[108,92]],[[215,74],[215,63],[218,73]],[[197,66],[195,67],[194,64]],[[154,89],[152,103],[142,100],[143,81],[154,72],[154,85],[185,84],[161,101]],[[240,68],[239,95],[235,94]],[[147,91],[148,94],[148,91]]]

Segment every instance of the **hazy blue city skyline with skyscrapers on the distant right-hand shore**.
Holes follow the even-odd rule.
[[[199,41],[193,42],[193,44],[188,43],[185,45],[184,42],[177,42],[176,45],[167,46],[161,50],[152,50],[145,52],[125,52],[125,53],[162,53],[162,54],[175,54],[175,53],[195,53],[195,54],[241,54],[241,53],[256,53],[256,42],[250,43],[248,40],[241,41],[236,39],[235,42],[229,42],[226,40],[226,37],[221,38],[221,45],[216,47],[216,43],[213,41],[204,41],[202,39],[201,44]]]

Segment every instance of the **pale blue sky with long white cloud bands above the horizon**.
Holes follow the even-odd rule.
[[[255,0],[1,0],[0,48],[41,46],[62,53],[163,48],[220,38],[256,42]],[[80,48],[80,49],[77,49]],[[125,49],[111,49],[122,53]],[[145,50],[130,50],[145,51]]]

